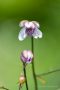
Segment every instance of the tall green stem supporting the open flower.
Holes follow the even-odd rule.
[[[31,38],[31,48],[32,48],[32,53],[34,54],[34,42],[33,42],[33,37]],[[34,83],[35,83],[35,90],[38,90],[38,86],[37,86],[37,79],[36,79],[36,75],[35,75],[35,68],[34,68],[34,58],[32,60],[32,72],[33,72],[33,78],[34,78]]]

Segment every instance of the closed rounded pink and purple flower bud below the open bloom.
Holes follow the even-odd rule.
[[[33,59],[33,53],[30,50],[24,50],[21,53],[21,60],[23,63],[31,63]]]

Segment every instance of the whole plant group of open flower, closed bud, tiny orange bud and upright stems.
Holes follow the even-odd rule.
[[[36,21],[28,21],[23,20],[19,23],[19,26],[21,27],[21,30],[18,35],[18,39],[20,41],[23,41],[27,36],[37,38],[42,38],[42,32],[39,30],[40,25]],[[33,47],[33,38],[32,38],[32,47]],[[23,50],[20,55],[20,59],[23,62],[23,71],[24,75],[19,78],[20,86],[26,83],[26,89],[28,90],[28,83],[27,83],[27,76],[26,76],[26,64],[32,62],[32,70],[33,70],[33,76],[35,81],[35,90],[38,90],[37,88],[37,80],[35,76],[35,69],[34,69],[34,60],[33,60],[33,48],[32,51],[30,50]],[[33,60],[33,61],[32,61]],[[20,88],[19,88],[20,90]]]

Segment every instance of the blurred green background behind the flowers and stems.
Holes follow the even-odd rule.
[[[36,74],[60,68],[60,0],[0,0],[0,86],[10,90],[18,90],[21,51],[31,49],[29,37],[18,40],[21,20],[38,21],[43,32],[42,39],[34,39]],[[29,90],[34,90],[31,64],[26,69]],[[60,90],[60,72],[43,78],[45,85],[37,79],[39,90]]]

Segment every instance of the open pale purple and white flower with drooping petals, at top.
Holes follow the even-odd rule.
[[[24,40],[27,36],[33,36],[34,38],[42,38],[42,32],[39,30],[39,23],[36,21],[23,20],[19,23],[22,28],[19,32],[18,39]]]

